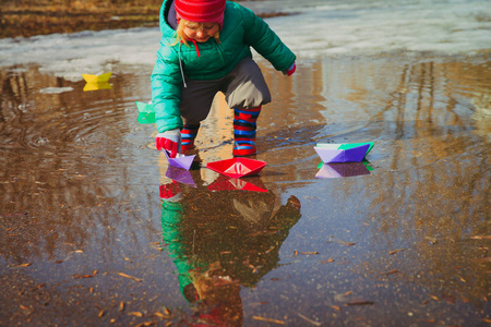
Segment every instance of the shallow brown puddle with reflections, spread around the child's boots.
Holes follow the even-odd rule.
[[[1,326],[490,324],[490,60],[261,64],[267,165],[232,181],[205,168],[231,158],[220,97],[176,172],[137,122],[152,66],[0,71]],[[318,142],[374,147],[319,178]]]

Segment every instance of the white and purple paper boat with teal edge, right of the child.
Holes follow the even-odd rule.
[[[373,142],[342,144],[318,143],[314,149],[324,164],[334,164],[361,161],[372,147]]]

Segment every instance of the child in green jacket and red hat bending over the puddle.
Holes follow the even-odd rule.
[[[296,56],[251,10],[226,0],[164,0],[163,37],[152,73],[157,149],[176,157],[194,147],[217,92],[233,108],[233,156],[256,153],[255,128],[270,89],[251,47],[285,75]]]

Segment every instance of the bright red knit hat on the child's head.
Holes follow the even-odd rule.
[[[176,0],[177,20],[224,25],[226,0]]]

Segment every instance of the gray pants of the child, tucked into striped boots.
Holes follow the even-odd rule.
[[[212,81],[185,81],[181,88],[181,117],[187,125],[197,124],[212,109],[218,92],[225,94],[229,108],[256,108],[271,102],[270,88],[258,64],[249,57],[242,59],[225,77]]]

